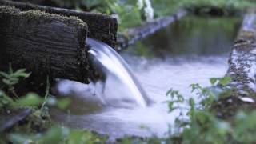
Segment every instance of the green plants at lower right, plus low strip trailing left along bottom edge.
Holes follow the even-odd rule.
[[[175,126],[170,130],[173,135],[168,138],[124,138],[120,142],[125,143],[254,143],[256,138],[256,111],[254,110],[254,100],[250,97],[230,97],[234,88],[227,86],[231,78],[210,78],[212,86],[202,87],[199,84],[190,85],[192,93],[196,93],[198,100],[185,98],[177,90],[169,90],[167,96],[170,97],[170,112],[176,109],[186,109],[186,114],[180,114],[176,118]],[[228,118],[225,110],[220,110],[216,103],[222,99],[230,98],[228,101],[233,105]],[[242,105],[249,105],[247,110],[237,109],[235,99],[239,98]],[[178,104],[186,102],[189,107],[181,107]],[[233,104],[232,104],[233,103]],[[225,105],[223,103],[223,105]],[[248,108],[247,107],[247,108]],[[232,112],[231,112],[232,111]],[[187,116],[188,118],[184,118]],[[174,131],[172,131],[174,130]]]

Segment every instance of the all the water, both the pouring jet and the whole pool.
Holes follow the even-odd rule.
[[[241,18],[183,18],[122,51],[130,68],[106,44],[87,40],[98,74],[91,76],[89,85],[59,82],[59,91],[73,103],[67,111],[52,109],[52,118],[110,139],[174,132],[171,128],[181,110],[168,113],[166,91],[174,88],[186,99],[197,98],[190,84],[210,86],[209,78],[224,76],[240,22]]]

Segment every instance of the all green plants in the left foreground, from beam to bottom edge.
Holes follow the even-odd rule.
[[[11,111],[30,109],[32,112],[21,122],[17,122],[9,129],[0,130],[0,143],[95,143],[105,142],[106,137],[86,130],[71,130],[65,126],[54,124],[50,120],[50,106],[60,110],[70,105],[68,98],[55,98],[49,94],[50,86],[46,88],[46,95],[40,97],[36,93],[20,96],[15,86],[18,86],[30,73],[25,69],[0,72],[0,116],[10,114]],[[2,122],[5,125],[8,122]]]

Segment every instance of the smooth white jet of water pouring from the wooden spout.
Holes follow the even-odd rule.
[[[87,38],[90,60],[98,74],[90,76],[95,93],[107,106],[147,106],[150,99],[122,57],[103,42]]]

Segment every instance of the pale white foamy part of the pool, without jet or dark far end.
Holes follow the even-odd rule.
[[[174,124],[174,119],[180,113],[179,110],[168,113],[168,106],[165,103],[166,91],[172,87],[174,90],[179,90],[186,99],[195,98],[195,95],[190,93],[190,84],[200,83],[202,86],[210,86],[209,78],[222,77],[227,70],[227,58],[224,57],[178,61],[129,56],[125,58],[129,58],[135,76],[148,96],[154,100],[152,106],[134,107],[134,109],[99,106],[98,109],[85,110],[86,105],[90,107],[88,101],[95,98],[90,95],[93,93],[90,87],[78,82],[66,82],[66,90],[73,90],[78,102],[74,100],[76,103],[70,107],[70,115],[54,110],[54,120],[76,128],[109,134],[110,138],[120,138],[125,135],[164,137],[169,130],[168,125]],[[98,103],[97,100],[94,103]],[[77,114],[79,111],[80,114]]]

